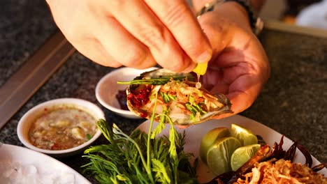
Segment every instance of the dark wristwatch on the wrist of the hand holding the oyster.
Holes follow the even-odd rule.
[[[252,4],[251,4],[250,0],[215,0],[215,1],[211,1],[210,3],[205,3],[205,6],[203,6],[203,8],[201,8],[201,10],[196,14],[196,16],[199,18],[204,13],[214,10],[214,8],[217,4],[221,4],[224,2],[228,2],[228,1],[233,1],[235,3],[238,3],[238,4],[240,4],[240,6],[245,8],[245,10],[247,11],[247,15],[249,16],[249,23],[252,27],[252,31],[256,35],[258,35],[263,29],[263,21],[261,20],[260,17],[258,17],[258,13],[256,12],[256,10],[254,10],[254,8],[252,8]]]

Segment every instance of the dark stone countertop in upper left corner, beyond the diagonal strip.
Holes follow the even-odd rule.
[[[1,87],[57,31],[57,26],[45,0],[1,0],[0,20]]]

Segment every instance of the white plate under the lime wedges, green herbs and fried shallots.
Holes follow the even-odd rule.
[[[261,123],[258,123],[252,119],[245,118],[244,116],[235,115],[228,118],[224,118],[221,120],[210,120],[206,121],[204,123],[198,124],[198,125],[191,125],[189,128],[184,129],[186,132],[186,144],[184,146],[184,151],[186,153],[194,153],[194,158],[198,158],[198,150],[200,148],[201,139],[205,135],[206,132],[209,130],[212,130],[212,128],[217,127],[226,127],[231,128],[231,123],[235,123],[238,125],[241,125],[244,128],[248,128],[249,130],[252,130],[254,134],[261,135],[263,137],[263,140],[266,141],[267,144],[270,146],[273,146],[275,142],[279,143],[280,138],[282,137],[279,132],[276,132],[275,130],[268,128],[266,125],[263,125]],[[154,127],[157,126],[158,123],[154,124]],[[150,121],[145,121],[141,125],[138,126],[138,129],[143,130],[147,132],[149,130]],[[161,135],[168,135],[168,127],[167,125],[166,129],[161,132]],[[177,129],[177,131],[182,132],[184,130]],[[284,137],[284,144],[283,148],[284,150],[287,150],[291,145],[293,144],[293,141],[291,139]],[[313,166],[320,164],[320,162],[312,157]],[[191,160],[191,163],[193,163],[194,160]],[[296,151],[294,162],[300,162],[302,164],[305,163],[305,157],[302,153],[300,153],[299,150]],[[324,174],[327,176],[327,169],[324,168],[319,173]],[[201,159],[199,159],[198,162],[198,181],[200,183],[205,183],[208,181],[211,181],[213,178],[215,178],[215,175],[212,174],[210,169],[201,162]]]

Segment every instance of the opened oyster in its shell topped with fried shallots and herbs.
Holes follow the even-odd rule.
[[[225,95],[213,95],[197,89],[191,74],[157,69],[144,72],[126,89],[127,106],[132,112],[155,121],[170,120],[177,125],[191,125],[212,116],[231,112]],[[154,109],[155,108],[155,109]]]

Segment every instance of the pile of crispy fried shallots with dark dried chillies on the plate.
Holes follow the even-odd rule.
[[[259,151],[237,171],[227,172],[217,176],[207,184],[256,184],[256,183],[312,183],[326,184],[327,178],[317,173],[326,167],[319,164],[311,168],[312,158],[310,153],[294,142],[289,150],[282,148],[284,136],[275,142],[273,148],[268,145],[261,146]],[[305,164],[293,163],[293,158],[298,148],[305,155]]]

